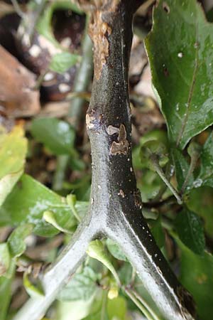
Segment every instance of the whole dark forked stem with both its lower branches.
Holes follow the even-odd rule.
[[[92,189],[84,225],[41,279],[45,297],[30,299],[15,320],[39,320],[84,259],[94,238],[116,241],[168,320],[192,320],[192,298],[170,270],[141,213],[131,160],[128,68],[132,19],[143,0],[103,0],[94,11],[94,82],[87,111]]]

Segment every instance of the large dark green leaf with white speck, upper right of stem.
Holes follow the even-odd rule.
[[[158,1],[146,50],[170,141],[181,149],[213,123],[212,42],[197,1]]]

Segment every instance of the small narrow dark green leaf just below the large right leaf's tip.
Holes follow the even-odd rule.
[[[187,172],[190,169],[190,165],[187,163],[187,160],[179,149],[172,148],[171,154],[173,157],[173,164],[175,166],[175,176],[178,182],[178,190],[180,191],[183,183],[185,182],[185,178],[187,177]],[[191,175],[187,183],[187,190],[192,186],[193,180],[193,175]]]

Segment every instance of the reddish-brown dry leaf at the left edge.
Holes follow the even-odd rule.
[[[0,112],[8,117],[28,117],[40,110],[35,76],[0,46]]]

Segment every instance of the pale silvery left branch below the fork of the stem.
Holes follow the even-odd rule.
[[[97,235],[96,225],[87,218],[77,229],[72,242],[62,251],[58,260],[45,272],[40,282],[45,296],[31,298],[13,317],[13,320],[40,320],[53,303],[60,289],[80,266],[89,242]]]

